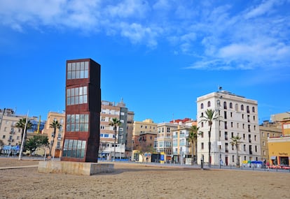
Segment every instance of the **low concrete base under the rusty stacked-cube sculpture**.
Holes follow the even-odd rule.
[[[38,172],[73,175],[95,175],[113,172],[112,163],[81,163],[69,161],[39,161]]]

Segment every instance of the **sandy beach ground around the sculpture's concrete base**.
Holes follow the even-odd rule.
[[[0,168],[37,164],[0,159]],[[0,198],[290,198],[289,172],[114,166],[113,173],[92,176],[0,170]]]

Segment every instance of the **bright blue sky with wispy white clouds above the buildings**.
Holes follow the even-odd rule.
[[[62,111],[67,59],[102,65],[102,100],[134,119],[196,119],[196,98],[290,110],[290,1],[0,0],[0,108]]]

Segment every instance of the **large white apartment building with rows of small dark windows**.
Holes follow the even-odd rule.
[[[258,126],[258,103],[244,96],[219,90],[197,99],[198,127],[202,132],[198,136],[198,163],[203,157],[205,163],[212,165],[235,165],[236,150],[230,138],[239,136],[238,159],[242,161],[261,160],[261,139]],[[211,131],[211,159],[209,160],[209,125],[202,121],[207,109],[214,110],[218,119],[213,121]]]

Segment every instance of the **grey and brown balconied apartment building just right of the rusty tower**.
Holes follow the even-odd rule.
[[[116,141],[116,158],[130,156],[132,123],[134,120],[134,112],[128,111],[123,99],[119,103],[102,101],[100,113],[100,145],[99,154],[106,159],[111,159],[114,151],[115,135],[113,126],[109,123],[113,118],[120,120],[120,126],[117,129]],[[127,151],[127,152],[126,152]]]

